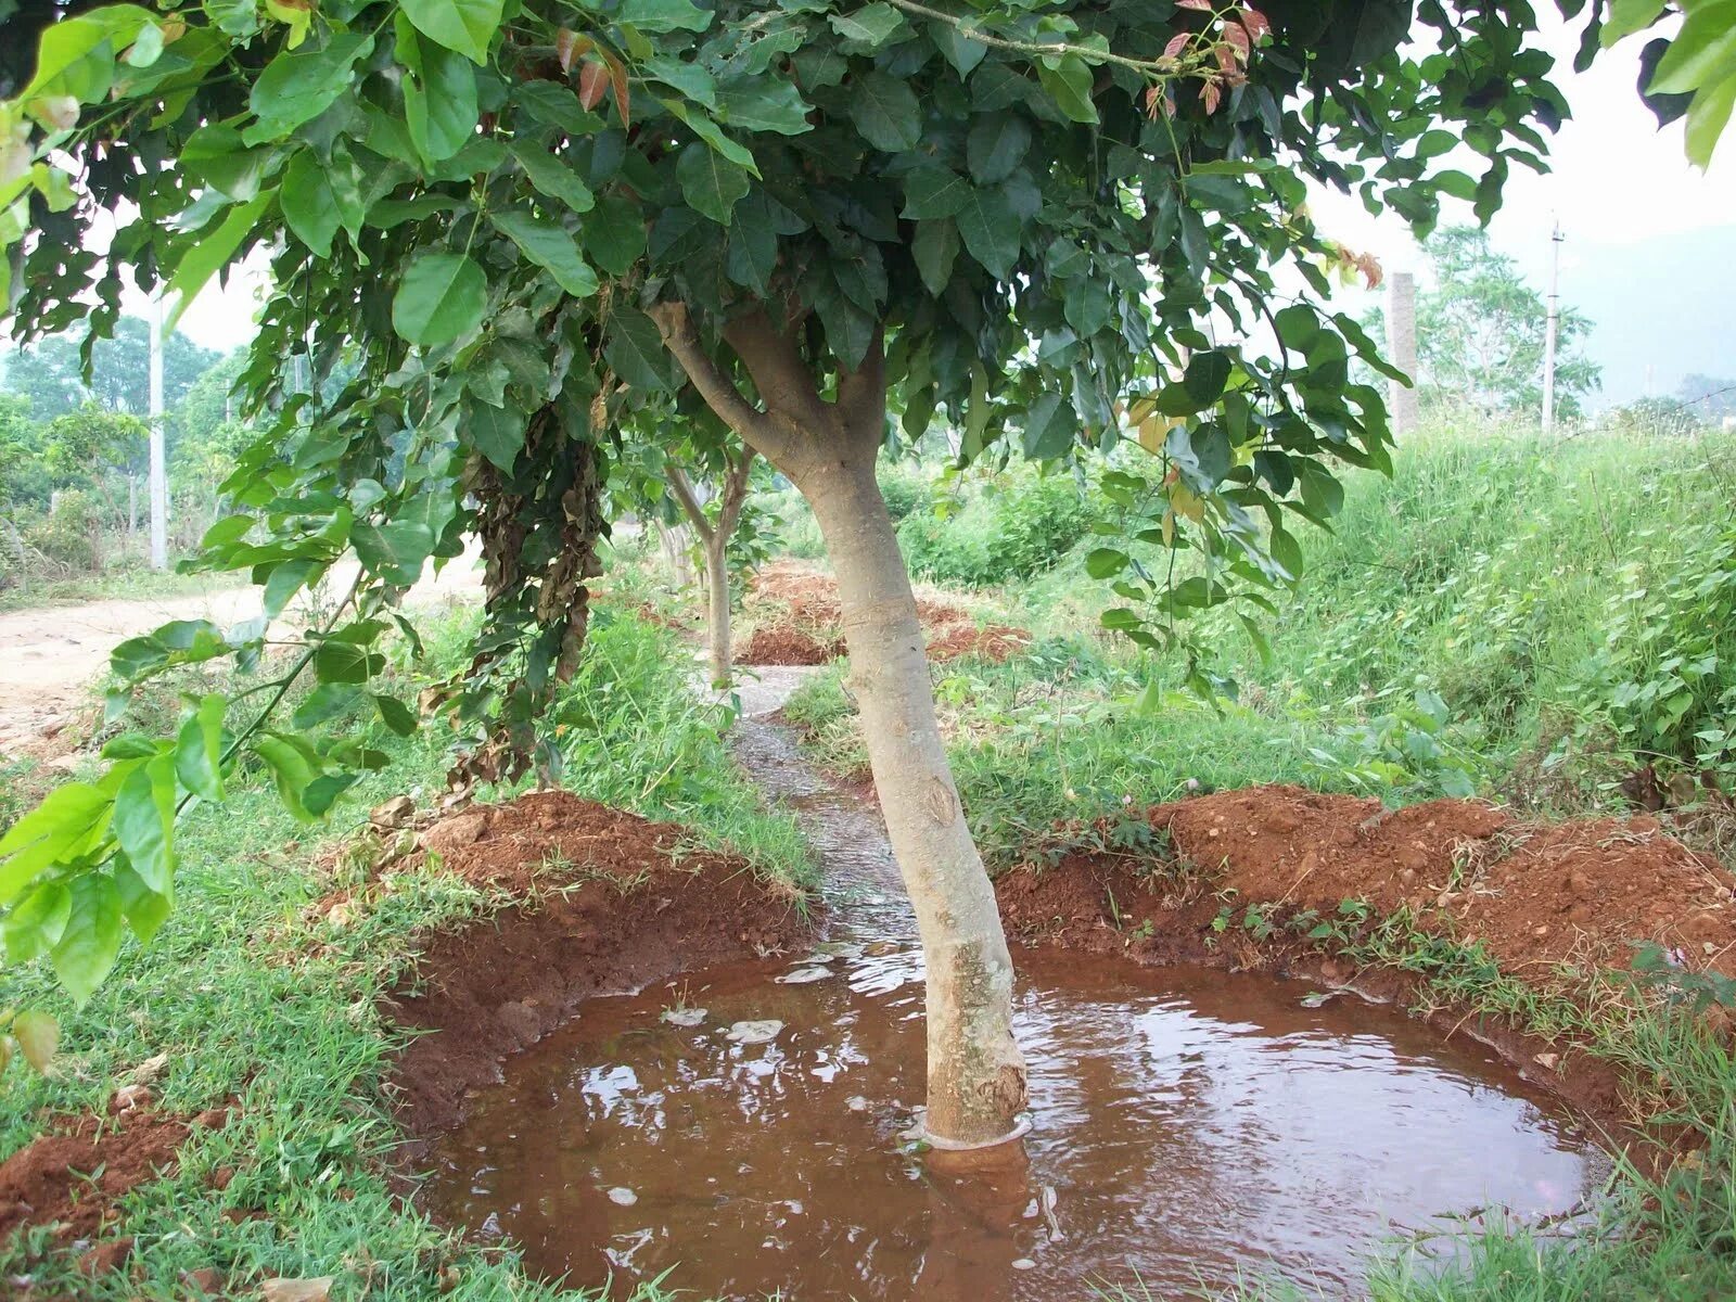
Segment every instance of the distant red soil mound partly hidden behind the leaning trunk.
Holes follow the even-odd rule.
[[[838,585],[828,575],[788,561],[769,564],[755,575],[745,608],[755,627],[736,654],[743,665],[825,665],[844,654]],[[979,628],[969,611],[936,597],[917,597],[917,620],[930,661],[979,656],[1000,663],[1031,642],[1023,628]]]

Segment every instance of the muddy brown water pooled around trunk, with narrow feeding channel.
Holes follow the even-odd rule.
[[[970,1172],[922,1156],[922,955],[878,819],[786,729],[736,741],[825,861],[832,939],[592,1000],[476,1099],[427,1198],[538,1274],[983,1302],[1281,1272],[1335,1297],[1382,1241],[1450,1253],[1467,1217],[1568,1217],[1608,1174],[1516,1073],[1394,1010],[1052,951],[1016,953],[1031,1135]]]

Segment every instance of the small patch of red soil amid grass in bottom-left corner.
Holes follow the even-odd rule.
[[[227,1109],[187,1120],[144,1108],[66,1120],[0,1163],[0,1241],[31,1226],[57,1226],[59,1243],[97,1234],[134,1186],[174,1172],[193,1127],[226,1120]]]

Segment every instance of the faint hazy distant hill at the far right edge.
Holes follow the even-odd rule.
[[[1521,267],[1549,285],[1547,252]],[[1594,406],[1674,394],[1693,372],[1736,373],[1736,226],[1641,245],[1585,245],[1569,229],[1561,267],[1562,302],[1597,326],[1587,352],[1604,368],[1604,389]]]

